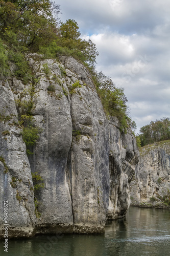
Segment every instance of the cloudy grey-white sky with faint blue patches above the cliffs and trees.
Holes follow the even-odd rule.
[[[170,1],[56,0],[99,51],[96,70],[125,88],[140,127],[170,117]]]

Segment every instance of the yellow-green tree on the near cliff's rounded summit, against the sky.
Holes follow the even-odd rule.
[[[68,19],[58,27],[56,40],[47,48],[41,47],[41,51],[46,55],[48,52],[48,56],[52,56],[54,53],[56,55],[71,55],[84,62],[92,70],[99,53],[90,39],[88,41],[82,40],[80,35],[78,23],[74,19]]]

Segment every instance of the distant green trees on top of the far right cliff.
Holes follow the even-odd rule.
[[[154,142],[170,139],[170,118],[164,117],[160,120],[151,121],[150,124],[140,128],[137,135],[138,145],[144,146]]]

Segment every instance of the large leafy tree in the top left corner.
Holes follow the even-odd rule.
[[[7,42],[7,32],[13,33],[19,45],[38,50],[56,38],[60,10],[50,0],[0,0],[0,7],[0,36]]]

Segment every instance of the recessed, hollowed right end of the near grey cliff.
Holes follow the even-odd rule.
[[[130,131],[121,134],[118,121],[110,122],[110,193],[108,219],[121,218],[130,206],[129,182],[134,174],[139,153]]]

